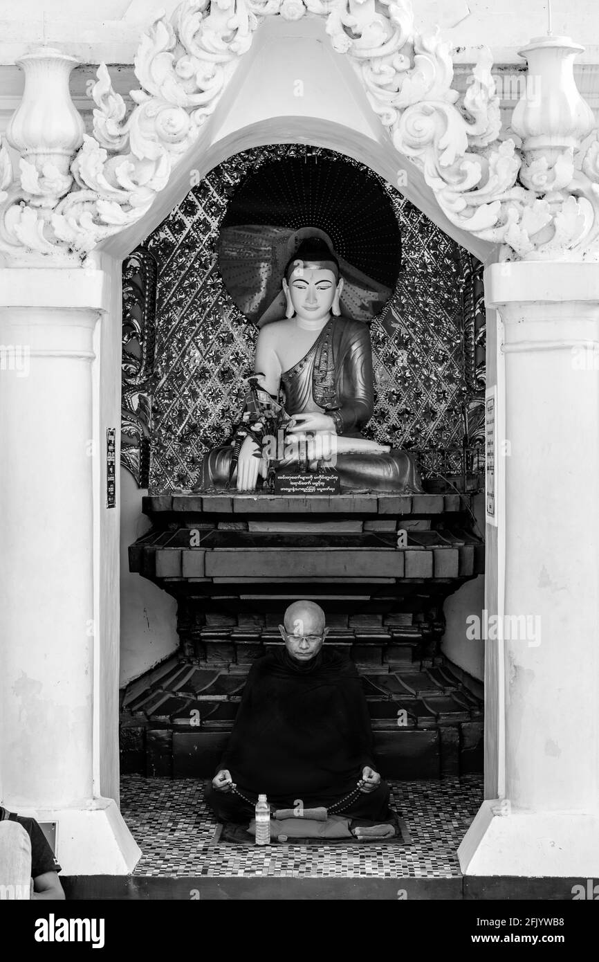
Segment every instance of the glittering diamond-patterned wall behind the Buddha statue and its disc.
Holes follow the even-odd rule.
[[[229,200],[259,166],[307,151],[358,165],[298,144],[237,154],[189,190],[125,262],[122,463],[153,494],[190,489],[204,452],[229,436],[252,373],[258,329],[239,314],[216,259]],[[365,433],[419,451],[425,475],[476,469],[485,392],[482,266],[358,166],[387,191],[402,239],[396,290],[370,325],[377,392]]]

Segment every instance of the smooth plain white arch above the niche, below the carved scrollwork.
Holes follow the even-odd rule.
[[[294,92],[298,81],[303,85],[301,96]],[[168,184],[147,213],[101,243],[100,249],[126,256],[183,199],[191,170],[203,177],[240,150],[286,142],[329,147],[362,161],[480,260],[497,256],[495,244],[457,227],[443,214],[420,167],[398,155],[348,58],[332,49],[323,20],[289,23],[281,17],[264,21],[197,139],[173,167]]]

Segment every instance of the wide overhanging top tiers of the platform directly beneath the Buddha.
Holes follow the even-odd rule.
[[[183,584],[469,578],[484,565],[483,544],[462,527],[469,500],[463,494],[144,497],[155,527],[130,547],[130,567],[175,596],[189,594]],[[398,547],[401,528],[407,544]]]

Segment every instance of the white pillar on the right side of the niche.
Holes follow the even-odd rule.
[[[486,295],[503,320],[506,359],[506,637],[495,643],[505,658],[506,797],[478,813],[460,848],[462,871],[593,877],[599,267],[493,265]],[[515,628],[518,616],[525,630],[522,620]]]

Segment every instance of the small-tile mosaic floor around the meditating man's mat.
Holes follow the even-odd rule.
[[[136,875],[177,877],[450,878],[457,849],[483,800],[481,775],[389,781],[391,804],[412,845],[282,845],[264,850],[211,845],[216,822],[195,779],[121,778],[121,811],[143,854]]]

